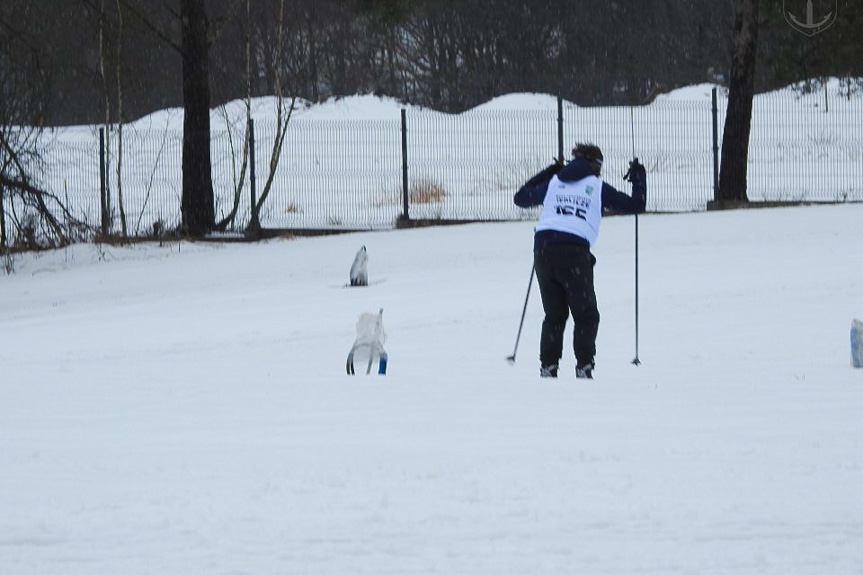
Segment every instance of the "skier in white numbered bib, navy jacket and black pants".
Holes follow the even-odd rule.
[[[638,214],[647,204],[647,175],[638,159],[624,180],[632,197],[602,181],[602,151],[577,144],[566,165],[555,162],[515,194],[522,208],[542,206],[534,234],[534,266],[545,319],[539,344],[540,376],[557,377],[569,314],[575,323],[573,351],[577,378],[593,378],[599,309],[593,287],[596,258],[590,252],[599,235],[603,210]]]

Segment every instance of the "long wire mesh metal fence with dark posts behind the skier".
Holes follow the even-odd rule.
[[[272,190],[260,213],[265,228],[377,229],[399,217],[518,220],[535,212],[512,196],[577,141],[605,154],[604,178],[623,190],[629,160],[648,171],[648,211],[696,211],[714,198],[716,144],[726,102],[709,92],[643,107],[582,108],[549,98],[541,109],[477,109],[459,115],[394,109],[391,119],[293,119]],[[543,102],[542,99],[537,99]],[[556,104],[556,105],[555,105]],[[179,115],[179,114],[177,114]],[[211,152],[217,217],[239,193],[235,229],[250,221],[249,178],[240,185],[245,127],[216,128]],[[255,122],[257,187],[268,179],[278,127]],[[714,140],[714,130],[716,138]],[[45,136],[39,183],[73,215],[97,225],[101,177],[117,230],[117,142],[105,145],[100,173],[95,128]],[[180,223],[182,129],[176,116],[124,127],[121,181],[127,230]],[[863,97],[840,91],[757,96],[749,149],[752,201],[863,201]],[[260,195],[261,190],[256,190]],[[7,199],[8,201],[8,199]]]

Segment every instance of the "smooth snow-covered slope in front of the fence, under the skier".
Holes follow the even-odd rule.
[[[538,377],[532,222],[78,245],[0,277],[4,575],[863,572],[863,206],[596,247]],[[367,246],[368,288],[344,289]],[[384,308],[386,376],[344,373]]]

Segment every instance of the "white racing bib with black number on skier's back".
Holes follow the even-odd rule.
[[[602,220],[602,180],[588,176],[577,182],[548,183],[536,231],[554,230],[584,238],[592,246]]]

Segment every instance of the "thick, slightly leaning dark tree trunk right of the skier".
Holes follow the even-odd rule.
[[[755,52],[758,43],[759,0],[733,0],[731,79],[722,138],[717,201],[747,202],[746,169],[752,98],[755,93]]]

